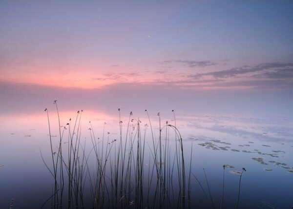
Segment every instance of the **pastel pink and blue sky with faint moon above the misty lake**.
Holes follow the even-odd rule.
[[[72,109],[292,114],[292,10],[292,1],[1,1],[0,109],[58,99]]]

